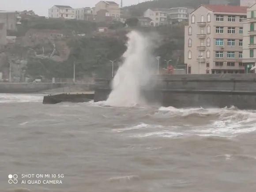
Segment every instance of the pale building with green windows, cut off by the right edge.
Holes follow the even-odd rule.
[[[245,71],[250,73],[252,72],[251,68],[256,66],[256,4],[247,9],[243,42],[243,63]]]

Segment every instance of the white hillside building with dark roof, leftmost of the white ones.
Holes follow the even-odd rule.
[[[49,9],[49,18],[75,19],[74,9],[66,5],[54,5]]]

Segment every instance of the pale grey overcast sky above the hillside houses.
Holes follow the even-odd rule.
[[[37,15],[48,16],[48,9],[53,5],[69,5],[72,8],[94,7],[99,0],[0,0],[0,10],[34,10]],[[120,4],[120,0],[113,0]],[[146,0],[123,0],[124,6],[138,4]]]

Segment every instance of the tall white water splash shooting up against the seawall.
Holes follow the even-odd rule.
[[[134,106],[143,104],[141,88],[145,86],[151,73],[152,41],[139,32],[132,31],[128,35],[127,51],[124,63],[113,79],[113,91],[106,101],[112,106]]]

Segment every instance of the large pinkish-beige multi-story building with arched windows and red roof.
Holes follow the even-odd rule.
[[[201,5],[185,26],[188,74],[244,73],[243,21],[247,7]]]

